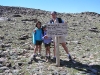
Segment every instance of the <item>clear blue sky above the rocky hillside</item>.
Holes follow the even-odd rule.
[[[100,0],[0,0],[3,6],[20,6],[65,13],[97,12]]]

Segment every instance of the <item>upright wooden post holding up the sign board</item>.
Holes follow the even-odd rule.
[[[60,56],[59,56],[59,36],[55,36],[55,54],[56,54],[56,65],[60,66]]]

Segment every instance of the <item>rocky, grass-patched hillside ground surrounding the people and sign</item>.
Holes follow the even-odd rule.
[[[33,53],[32,30],[37,20],[50,20],[50,12],[0,6],[0,75],[100,75],[100,14],[58,13],[68,23],[66,45],[75,63],[60,46],[60,67],[53,62],[28,64]],[[42,56],[45,50],[42,45]],[[53,46],[51,46],[51,54]]]

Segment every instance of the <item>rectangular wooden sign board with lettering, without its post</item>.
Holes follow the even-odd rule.
[[[67,24],[65,23],[47,24],[46,26],[48,36],[67,35]]]

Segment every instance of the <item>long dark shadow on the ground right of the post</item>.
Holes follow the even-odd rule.
[[[60,60],[60,66],[74,68],[74,69],[77,69],[79,71],[83,71],[84,73],[93,73],[96,75],[100,75],[100,65],[87,65],[87,64],[82,64],[82,63],[75,61],[75,60],[74,60],[74,62]]]

